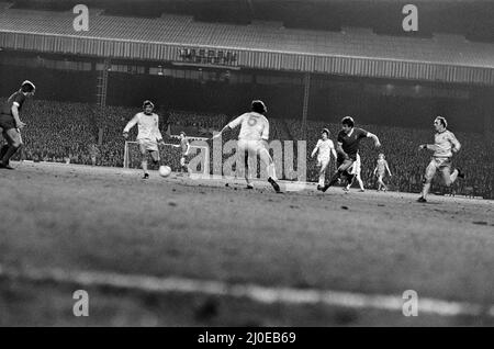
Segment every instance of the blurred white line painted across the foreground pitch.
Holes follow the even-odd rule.
[[[186,278],[158,278],[144,274],[122,274],[100,271],[68,271],[52,269],[14,269],[0,264],[0,278],[30,282],[58,282],[78,286],[104,286],[115,290],[141,291],[157,294],[190,293],[235,299],[247,299],[263,304],[327,305],[349,308],[373,308],[402,312],[407,301],[401,295],[364,294],[317,289],[261,286],[256,284],[229,284],[222,281]],[[439,316],[494,317],[494,305],[449,302],[418,297],[418,314]]]

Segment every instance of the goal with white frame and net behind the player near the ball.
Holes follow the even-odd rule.
[[[159,147],[159,157],[161,165],[169,166],[171,171],[177,172],[181,169],[180,158],[181,148],[177,147],[177,144],[166,143]],[[199,157],[199,159],[197,159]],[[195,174],[210,174],[210,148],[205,146],[190,145],[189,155],[187,156],[186,165],[194,158],[194,166],[188,166],[189,173]],[[124,168],[141,168],[141,150],[137,142],[125,142],[124,149]],[[148,162],[149,169],[153,168],[151,162]]]

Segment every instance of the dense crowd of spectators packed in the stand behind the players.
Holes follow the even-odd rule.
[[[4,102],[4,99],[0,99]],[[22,120],[27,124],[22,131],[24,147],[18,159],[33,161],[57,161],[83,165],[113,166],[124,165],[124,145],[122,130],[133,115],[141,110],[106,106],[102,117],[93,104],[68,103],[43,100],[31,100],[25,103],[22,111]],[[168,117],[166,117],[168,116]],[[179,140],[170,136],[179,130],[198,127],[213,132],[221,130],[229,120],[226,115],[200,114],[182,111],[172,111],[161,120],[161,134],[166,143],[178,144]],[[386,178],[392,190],[404,192],[418,192],[422,188],[422,179],[430,158],[430,151],[418,150],[418,145],[433,143],[433,130],[404,128],[383,125],[357,125],[379,136],[382,143],[380,149],[373,147],[371,140],[361,143],[360,155],[362,159],[362,179],[366,188],[375,188],[377,178],[372,174],[379,153],[384,153],[392,172]],[[318,171],[315,158],[310,157],[323,127],[329,128],[330,138],[336,144],[336,137],[340,131],[339,124],[327,124],[321,121],[308,121],[306,128],[306,178],[308,181],[317,181]],[[481,195],[494,198],[493,176],[494,153],[492,143],[486,143],[483,135],[462,133],[452,130],[462,144],[461,151],[454,156],[453,166],[459,166],[467,173],[465,180],[458,181],[451,189],[445,189],[439,178],[433,182],[434,192]],[[206,134],[206,133],[204,133]],[[131,132],[130,139],[137,136],[137,127]],[[227,132],[223,136],[223,143],[236,139],[238,130]],[[99,139],[101,137],[101,139]],[[270,117],[270,140],[304,140],[302,122],[300,120],[281,120]],[[102,140],[102,142],[99,142]],[[3,142],[3,140],[1,140]],[[211,143],[210,143],[211,145]],[[296,148],[296,146],[295,146]],[[128,147],[130,167],[139,167],[141,157],[138,147],[132,144]],[[172,170],[179,170],[180,149],[177,147],[161,147],[161,157],[171,166]],[[295,151],[296,153],[296,151]],[[211,160],[213,151],[210,151]],[[223,159],[232,154],[224,154]],[[296,159],[294,160],[296,164]],[[211,161],[211,170],[218,173],[221,169],[214,168]],[[217,164],[216,164],[217,165]],[[330,162],[329,173],[335,170],[335,161]],[[328,176],[329,176],[328,173]],[[284,178],[284,173],[280,174]],[[290,178],[285,178],[289,179]]]

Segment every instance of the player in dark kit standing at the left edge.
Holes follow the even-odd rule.
[[[13,169],[10,167],[9,161],[22,146],[21,128],[25,126],[19,114],[25,99],[34,95],[35,89],[36,87],[33,82],[25,80],[22,82],[21,89],[9,97],[0,110],[0,128],[2,130],[3,138],[7,140],[7,145],[0,149],[0,168]]]

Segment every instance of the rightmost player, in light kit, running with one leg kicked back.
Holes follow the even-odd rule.
[[[418,198],[418,202],[427,202],[427,194],[429,193],[430,182],[437,171],[442,173],[442,179],[446,187],[450,187],[458,178],[464,179],[464,173],[457,167],[451,173],[451,158],[452,155],[460,151],[461,144],[454,137],[453,133],[447,130],[448,122],[442,116],[437,116],[434,121],[434,128],[436,134],[434,135],[434,144],[423,144],[418,146],[418,149],[433,150],[433,158],[429,166],[427,166],[424,176],[424,188],[422,195]]]

